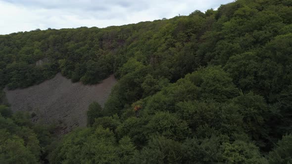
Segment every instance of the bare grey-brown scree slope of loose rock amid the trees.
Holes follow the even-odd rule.
[[[6,97],[13,111],[29,111],[33,121],[58,123],[63,132],[75,126],[86,126],[86,112],[93,101],[104,105],[111,88],[116,83],[114,76],[96,85],[72,83],[60,73],[53,79],[25,89],[7,90]]]

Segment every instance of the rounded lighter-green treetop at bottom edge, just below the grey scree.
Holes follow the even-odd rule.
[[[60,145],[49,155],[50,163],[118,163],[115,138],[109,129],[75,130],[62,139]]]

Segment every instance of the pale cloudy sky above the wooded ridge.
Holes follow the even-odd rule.
[[[108,27],[189,15],[234,0],[0,0],[0,35]]]

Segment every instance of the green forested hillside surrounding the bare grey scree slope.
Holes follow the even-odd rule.
[[[90,105],[87,128],[60,140],[48,130],[57,127],[0,106],[0,161],[292,163],[292,0],[236,0],[153,22],[0,36],[1,87],[58,72],[84,84],[114,73],[118,83],[104,108]]]

